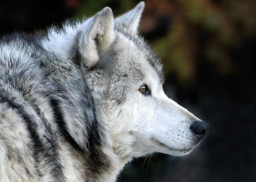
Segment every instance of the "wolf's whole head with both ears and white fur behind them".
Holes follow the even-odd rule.
[[[207,130],[204,122],[165,95],[162,65],[138,35],[143,8],[141,2],[114,18],[106,7],[81,24],[52,31],[44,42],[46,49],[72,58],[82,69],[101,140],[120,159],[152,152],[184,155]]]

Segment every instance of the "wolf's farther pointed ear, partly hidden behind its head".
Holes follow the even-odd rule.
[[[120,26],[126,28],[128,31],[137,32],[140,17],[145,7],[144,2],[140,2],[134,9],[131,11],[117,17],[115,19],[115,26],[118,29]]]

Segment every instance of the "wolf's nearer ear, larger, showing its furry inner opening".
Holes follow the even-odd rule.
[[[114,38],[114,17],[109,7],[85,21],[78,35],[78,51],[84,65],[93,67],[99,60],[99,51],[108,47]]]

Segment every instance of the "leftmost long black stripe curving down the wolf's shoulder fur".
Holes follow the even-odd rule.
[[[17,110],[18,114],[24,119],[24,121],[27,124],[28,132],[31,136],[31,139],[34,144],[34,159],[36,163],[40,163],[38,160],[38,153],[40,153],[46,160],[47,163],[49,163],[50,166],[52,166],[52,175],[55,178],[56,181],[63,181],[63,172],[61,169],[61,165],[58,161],[57,152],[56,152],[56,146],[54,147],[53,141],[49,139],[49,137],[45,136],[45,139],[47,140],[48,144],[51,144],[51,147],[46,147],[42,140],[40,139],[40,136],[37,134],[36,129],[37,126],[34,123],[33,119],[28,115],[28,113],[25,112],[25,110],[22,108],[22,106],[18,105],[14,101],[10,100],[9,98],[0,95],[0,102],[7,103],[9,107],[12,109]],[[41,176],[40,171],[38,170],[37,166],[38,164],[35,164],[35,168],[37,169],[38,175]]]

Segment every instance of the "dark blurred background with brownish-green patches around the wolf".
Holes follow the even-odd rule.
[[[0,35],[47,31],[105,6],[115,15],[139,1],[0,1]],[[162,60],[165,91],[210,125],[178,158],[135,159],[118,181],[256,181],[256,1],[148,0],[140,33]]]

